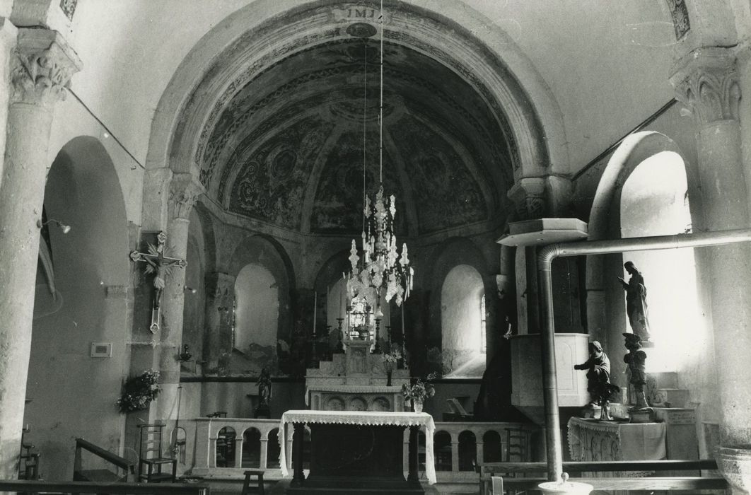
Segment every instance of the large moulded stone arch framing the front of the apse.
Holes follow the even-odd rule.
[[[274,0],[258,0],[204,35],[159,101],[147,168],[195,173],[201,142],[232,92],[291,51],[342,36],[336,16],[321,14],[339,4],[327,0],[287,9]],[[558,104],[532,62],[502,29],[487,29],[493,22],[460,2],[426,6],[417,0],[391,1],[387,8],[389,41],[430,53],[450,66],[481,89],[499,119],[505,117],[505,135],[499,139],[508,140],[514,150],[514,177],[538,176],[548,169],[569,172]],[[459,18],[461,26],[451,20]],[[283,26],[275,26],[279,19],[284,19]],[[243,61],[246,69],[228,62],[228,56]]]

